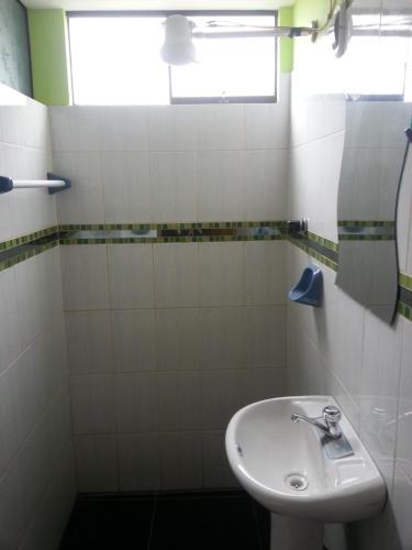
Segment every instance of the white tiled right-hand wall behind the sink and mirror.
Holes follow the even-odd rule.
[[[297,55],[300,66],[299,59],[302,62],[303,57],[299,48]],[[316,55],[313,50],[303,62],[308,70],[323,59]],[[336,242],[336,198],[346,106],[338,96],[305,97],[307,90],[300,86],[303,73],[301,67],[293,76],[289,216],[309,217],[311,231]],[[350,103],[348,108],[355,116],[348,118],[346,131],[364,147],[363,160],[371,158],[377,151],[381,154],[380,147],[387,145],[388,140],[391,146],[397,144],[393,133],[403,128],[408,120],[405,111],[410,111],[410,105],[402,103],[392,116],[393,105]],[[372,111],[367,124],[360,116],[365,108]],[[399,135],[399,146],[404,146],[402,132]],[[410,166],[408,163],[398,211],[400,267],[408,273],[411,273],[408,262],[412,220]],[[369,173],[372,174],[372,164]],[[378,195],[377,211],[381,209]],[[363,200],[361,194],[358,199]],[[290,244],[289,284],[294,284],[304,265],[312,262]],[[288,304],[288,389],[291,394],[334,395],[369,448],[388,487],[383,513],[349,526],[346,537],[341,536],[339,529],[327,529],[327,548],[408,550],[412,540],[405,512],[412,494],[412,443],[408,436],[412,323],[402,317],[392,327],[382,323],[334,285],[334,272],[325,266],[322,271],[321,308]]]

